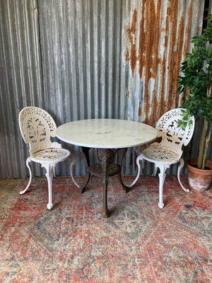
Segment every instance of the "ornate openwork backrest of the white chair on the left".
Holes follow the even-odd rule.
[[[55,147],[50,137],[55,137],[57,128],[49,113],[41,108],[29,106],[20,111],[18,117],[23,140],[30,146],[30,154]]]

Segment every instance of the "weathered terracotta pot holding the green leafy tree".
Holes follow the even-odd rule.
[[[190,158],[186,161],[186,168],[189,180],[189,187],[192,190],[207,190],[212,181],[212,161],[206,160],[208,169],[199,169],[196,166],[198,158]]]

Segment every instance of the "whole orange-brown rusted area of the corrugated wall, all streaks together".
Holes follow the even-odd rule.
[[[125,26],[130,47],[126,48],[124,59],[129,61],[133,77],[138,64],[139,78],[143,80],[143,105],[139,100],[137,114],[139,117],[142,114],[145,117],[143,122],[149,125],[155,125],[164,112],[177,107],[179,97],[176,94],[176,79],[189,45],[192,1],[187,9],[186,25],[184,13],[179,14],[180,1],[172,0],[169,4],[163,19],[162,0],[143,0],[140,22],[137,23],[137,11],[134,8],[131,23]],[[162,28],[160,21],[163,21]],[[163,43],[160,43],[162,36]],[[129,94],[126,96],[129,97]]]

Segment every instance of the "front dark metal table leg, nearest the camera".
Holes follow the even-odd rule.
[[[102,166],[102,183],[103,183],[103,206],[101,215],[104,218],[110,216],[109,209],[107,207],[107,184],[108,184],[108,166],[112,161],[114,161],[114,156],[117,153],[113,149],[93,149],[95,152],[98,161]]]

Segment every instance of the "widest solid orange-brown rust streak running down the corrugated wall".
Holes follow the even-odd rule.
[[[160,8],[161,0],[158,0],[155,6],[154,0],[145,0],[141,6],[141,21],[140,21],[140,35],[139,35],[139,77],[142,73],[144,77],[144,102],[143,112],[145,113],[145,120],[143,122],[153,125],[155,120],[153,111],[153,103],[155,103],[155,79],[158,73],[158,64],[160,58],[158,57],[158,45],[160,38]],[[150,79],[154,79],[153,91],[151,93],[151,104],[148,93],[148,83]],[[148,116],[148,114],[150,115]]]

